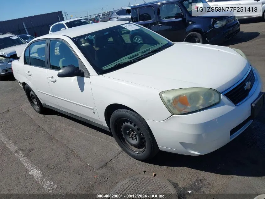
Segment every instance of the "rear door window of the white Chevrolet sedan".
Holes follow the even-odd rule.
[[[46,67],[46,41],[36,41],[29,46],[29,62],[32,66]]]

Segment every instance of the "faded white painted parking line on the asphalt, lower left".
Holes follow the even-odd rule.
[[[58,191],[57,185],[51,180],[47,180],[43,177],[41,170],[30,162],[28,158],[16,147],[2,132],[0,129],[0,139],[5,145],[15,154],[21,163],[29,170],[29,174],[33,175],[35,180],[44,188],[48,193],[55,193]]]

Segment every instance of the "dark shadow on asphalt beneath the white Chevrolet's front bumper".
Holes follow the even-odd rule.
[[[241,135],[215,152],[185,156],[161,151],[148,163],[221,175],[265,176],[265,108]]]

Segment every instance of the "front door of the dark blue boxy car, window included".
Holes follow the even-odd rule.
[[[157,8],[157,33],[171,41],[184,41],[186,33],[185,18],[175,19],[183,11],[177,3],[163,3]]]

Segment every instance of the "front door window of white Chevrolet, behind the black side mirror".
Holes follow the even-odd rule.
[[[73,65],[79,68],[78,58],[72,49],[63,41],[50,41],[50,67],[61,70],[63,67]]]

